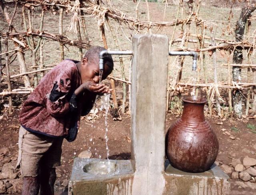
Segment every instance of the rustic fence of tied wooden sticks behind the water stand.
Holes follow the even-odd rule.
[[[98,26],[100,27],[101,33],[102,33],[102,40],[104,42],[104,46],[107,48],[107,38],[105,34],[106,24],[109,27],[110,32],[112,33],[112,37],[114,38],[115,45],[117,49],[122,49],[118,43],[118,35],[117,33],[114,33],[113,27],[111,22],[114,21],[116,22],[116,25],[120,26],[120,29],[122,30],[122,33],[124,33],[124,30],[122,28],[122,25],[125,24],[130,30],[132,30],[135,33],[139,33],[141,30],[145,29],[147,31],[151,31],[151,29],[156,29],[157,31],[161,31],[163,28],[168,28],[168,27],[174,27],[174,32],[176,30],[176,26],[178,25],[184,25],[184,32],[181,34],[181,38],[174,38],[174,32],[170,41],[170,49],[174,51],[197,51],[199,55],[199,62],[203,63],[203,71],[204,71],[204,83],[199,83],[200,81],[200,74],[198,74],[197,81],[196,83],[180,83],[181,78],[182,78],[182,64],[184,59],[180,58],[178,60],[178,65],[180,67],[180,71],[178,71],[176,77],[174,78],[174,82],[172,85],[168,86],[168,97],[173,96],[174,93],[176,93],[176,89],[178,87],[206,87],[208,91],[211,91],[213,93],[216,93],[216,100],[218,100],[218,88],[223,88],[223,89],[228,89],[228,96],[229,96],[229,106],[230,106],[230,112],[232,112],[232,99],[231,99],[231,94],[232,90],[242,90],[242,89],[255,89],[256,86],[256,65],[255,64],[230,64],[229,62],[226,64],[222,64],[224,67],[227,67],[228,69],[228,82],[227,83],[219,83],[217,80],[215,80],[214,83],[208,83],[208,79],[206,77],[206,63],[205,63],[205,55],[208,52],[213,52],[214,51],[224,51],[225,55],[229,57],[230,53],[229,52],[234,52],[237,50],[237,48],[242,48],[242,49],[247,49],[248,53],[254,52],[254,48],[256,48],[256,41],[255,41],[255,36],[251,36],[249,33],[246,34],[246,39],[237,39],[236,41],[232,41],[230,39],[224,39],[224,38],[218,38],[214,36],[210,37],[206,35],[206,29],[212,28],[220,28],[217,24],[226,24],[228,25],[228,32],[231,30],[231,24],[234,25],[234,22],[231,22],[230,18],[232,18],[232,9],[230,11],[230,17],[228,21],[218,21],[218,20],[210,20],[206,21],[200,18],[199,15],[199,10],[200,10],[200,2],[195,3],[192,0],[188,1],[188,8],[189,8],[189,13],[188,16],[183,17],[184,13],[184,4],[180,2],[180,6],[178,8],[177,16],[175,20],[170,20],[168,22],[151,22],[149,20],[149,9],[148,9],[148,21],[142,21],[140,20],[139,17],[139,12],[138,12],[138,6],[140,5],[140,1],[136,4],[136,18],[133,18],[131,16],[127,16],[125,13],[117,10],[114,8],[113,4],[111,6],[108,6],[107,2],[106,4],[101,4],[100,1],[99,3],[95,3],[91,0],[79,0],[79,3],[77,1],[62,1],[62,0],[8,0],[8,1],[1,1],[1,7],[3,8],[3,12],[6,18],[6,22],[8,24],[8,32],[2,33],[0,31],[0,38],[5,39],[5,40],[10,40],[14,43],[15,49],[8,50],[8,45],[6,45],[6,51],[0,51],[0,56],[6,55],[6,76],[4,78],[7,79],[8,83],[8,91],[3,91],[0,93],[0,95],[7,95],[9,97],[9,102],[11,101],[11,96],[16,95],[16,94],[26,94],[26,93],[31,93],[32,90],[30,90],[30,83],[29,83],[29,77],[28,75],[34,74],[34,79],[37,77],[38,73],[41,72],[41,77],[44,75],[45,71],[49,71],[52,69],[52,66],[54,65],[44,65],[43,62],[43,47],[45,40],[50,40],[50,41],[58,41],[60,44],[60,59],[64,59],[64,47],[66,45],[70,46],[75,46],[79,48],[80,50],[80,56],[82,57],[82,49],[90,49],[92,45],[89,42],[88,39],[88,32],[86,30],[86,14],[90,14],[90,16],[95,16],[96,19],[98,20]],[[15,8],[14,12],[12,13],[12,17],[9,17],[9,14],[7,12],[7,9],[5,8],[5,4],[10,4],[10,3],[15,3]],[[146,2],[148,5],[148,3]],[[23,14],[23,21],[24,21],[24,30],[23,31],[17,31],[13,24],[12,21],[14,19],[14,16],[16,14],[17,8],[19,6],[22,6],[22,14]],[[38,7],[41,8],[41,16],[40,16],[40,29],[34,30],[31,22],[31,13],[32,10],[30,10],[30,6]],[[46,32],[43,30],[43,24],[44,24],[44,14],[47,10],[54,10],[56,8],[59,8],[59,34],[53,34],[50,32]],[[147,6],[148,8],[148,6]],[[182,17],[180,16],[180,11],[182,13]],[[74,14],[73,17],[74,20],[72,20],[73,24],[71,26],[74,26],[77,31],[77,39],[69,39],[67,36],[63,35],[63,14],[64,12],[72,12]],[[80,14],[80,16],[79,16]],[[166,8],[165,12],[166,14]],[[165,16],[165,15],[164,15]],[[82,19],[82,23],[79,22],[79,18]],[[255,16],[251,16],[249,20],[255,20]],[[26,21],[28,21],[28,27],[26,27]],[[107,23],[106,23],[107,22]],[[196,33],[190,33],[190,26],[196,25]],[[209,27],[210,26],[210,27]],[[83,30],[84,33],[81,33]],[[83,36],[84,35],[84,36]],[[124,33],[125,35],[125,33]],[[253,33],[254,35],[254,33]],[[125,35],[126,36],[126,35]],[[191,39],[191,37],[196,37],[196,39]],[[129,39],[126,36],[127,39]],[[206,39],[211,40],[206,41]],[[44,42],[42,43],[42,41]],[[37,42],[35,42],[37,41]],[[130,41],[130,40],[129,40]],[[192,44],[189,43],[196,43],[196,47],[191,47]],[[8,44],[8,42],[7,42]],[[179,44],[179,45],[178,45]],[[173,46],[176,46],[175,49],[173,49]],[[36,51],[40,48],[40,65],[37,64],[36,61]],[[26,50],[30,49],[32,51],[32,58],[33,58],[33,64],[30,66],[30,68],[33,69],[33,71],[27,71],[26,70],[26,64],[24,60],[24,52]],[[8,70],[9,68],[9,61],[10,61],[10,56],[8,56],[9,53],[17,53],[19,63],[21,64],[21,73],[17,75],[10,75],[10,71]],[[216,55],[215,53],[213,55]],[[248,55],[249,58],[249,55]],[[116,78],[113,76],[109,76],[111,79],[112,83],[112,88],[115,89],[114,87],[114,80],[120,81],[123,83],[123,104],[122,104],[122,111],[124,112],[125,108],[125,101],[126,101],[126,84],[130,85],[131,83],[129,81],[126,81],[126,77],[124,74],[124,63],[123,59],[119,58],[120,61],[120,66],[121,66],[121,78]],[[0,60],[1,63],[1,60]],[[198,71],[200,71],[200,63],[198,66]],[[3,63],[1,63],[2,65]],[[216,63],[215,63],[216,64]],[[217,65],[216,65],[217,67]],[[238,67],[238,68],[247,68],[248,69],[248,80],[247,83],[234,83],[231,82],[231,67]],[[250,69],[253,71],[253,82],[250,83]],[[2,70],[2,69],[1,69]],[[215,69],[215,71],[217,68]],[[24,78],[24,83],[25,86],[27,87],[26,89],[11,89],[10,84],[10,79],[18,78],[18,77],[23,77]],[[130,77],[130,76],[129,76]],[[216,79],[216,74],[214,76],[214,79]],[[1,80],[1,79],[0,79]],[[25,82],[26,80],[26,82]],[[168,79],[169,81],[169,79]],[[168,83],[169,84],[169,83]],[[35,79],[34,85],[37,85],[37,81]],[[214,90],[213,90],[214,89]],[[115,91],[115,90],[114,90]],[[247,104],[248,101],[250,102],[250,91],[247,93]],[[116,100],[116,95],[115,93],[112,94],[113,100],[114,100],[114,105],[115,108],[117,108],[117,100]],[[211,95],[212,96],[212,95]],[[254,95],[255,96],[255,95]],[[171,101],[171,98],[169,98]],[[167,109],[168,109],[168,103],[167,102]],[[256,96],[254,97],[254,101],[256,102]],[[218,101],[216,101],[218,102]],[[211,101],[210,101],[210,96],[208,96],[208,104],[210,107],[210,113],[212,106]],[[256,104],[256,103],[255,103]],[[12,108],[11,102],[10,102],[10,109]],[[256,106],[254,106],[254,109],[256,111]],[[11,112],[11,110],[10,110]],[[220,113],[220,109],[219,109]],[[248,106],[246,109],[246,113],[248,113]]]

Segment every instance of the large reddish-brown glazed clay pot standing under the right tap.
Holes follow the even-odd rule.
[[[184,109],[167,133],[167,156],[171,165],[182,171],[199,173],[215,162],[219,143],[210,123],[204,118],[203,97],[183,97]]]

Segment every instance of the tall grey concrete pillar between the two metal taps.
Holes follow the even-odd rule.
[[[164,191],[168,47],[165,35],[132,39],[132,195],[162,195]]]

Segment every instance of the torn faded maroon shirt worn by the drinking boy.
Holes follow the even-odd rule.
[[[74,123],[78,129],[83,109],[90,110],[96,98],[88,93],[72,103],[74,91],[81,84],[75,62],[62,61],[42,78],[24,102],[20,124],[30,132],[52,137],[67,136]]]

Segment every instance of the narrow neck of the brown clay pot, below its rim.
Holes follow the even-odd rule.
[[[204,122],[204,103],[184,102],[181,120],[191,123]]]

